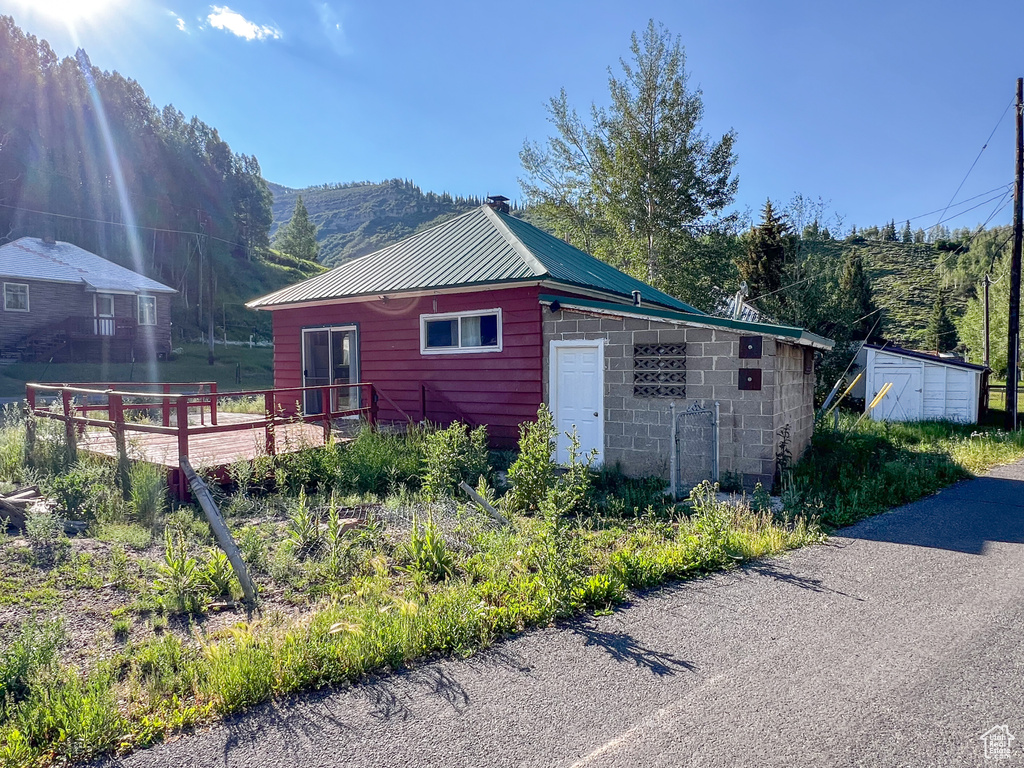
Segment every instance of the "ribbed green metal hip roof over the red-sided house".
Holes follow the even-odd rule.
[[[254,299],[273,309],[313,301],[545,281],[702,314],[532,224],[480,206],[331,271]]]

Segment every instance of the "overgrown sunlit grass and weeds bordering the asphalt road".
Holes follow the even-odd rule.
[[[844,416],[839,430],[815,434],[785,480],[785,511],[773,515],[758,504],[718,502],[710,486],[674,506],[653,480],[589,473],[583,463],[549,473],[546,436],[537,434],[512,474],[540,478],[541,498],[506,494],[500,504],[511,525],[497,527],[469,508],[433,517],[444,504],[454,508],[439,490],[442,507],[426,506],[420,493],[427,445],[445,439],[434,434],[367,431],[347,446],[304,452],[270,468],[286,475],[272,493],[252,478],[239,490],[237,499],[259,510],[237,526],[245,557],[264,595],[283,594],[302,610],[293,618],[267,610],[215,631],[175,629],[213,597],[238,593],[208,531],[187,508],[160,515],[167,547],[153,562],[128,551],[133,540],[147,541],[150,528],[100,526],[100,537],[117,542],[109,559],[74,554],[53,569],[47,588],[73,589],[86,600],[110,582],[138,593],[137,601],[112,611],[102,633],[118,644],[92,664],[62,662],[60,640],[52,651],[23,641],[12,655],[0,652],[0,671],[14,671],[6,676],[17,690],[0,713],[0,767],[124,752],[271,698],[436,654],[469,655],[530,628],[612,610],[630,590],[819,542],[821,525],[854,522],[1024,456],[1021,434],[946,423],[853,429],[853,417]],[[455,476],[476,461],[467,454],[445,471]],[[342,530],[333,495],[360,485],[397,492],[385,510],[420,510],[412,532],[372,520]],[[317,494],[307,497],[307,489]],[[31,569],[18,565],[0,595],[15,591],[17,574]],[[147,624],[156,637],[136,631]],[[26,625],[23,637],[39,632]],[[43,652],[33,655],[36,645]]]

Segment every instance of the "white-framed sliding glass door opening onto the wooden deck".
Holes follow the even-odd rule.
[[[359,352],[354,326],[305,329],[302,332],[302,385],[355,384],[359,381]],[[356,388],[331,395],[331,411],[359,408]],[[310,390],[303,398],[306,415],[324,413],[323,393]]]

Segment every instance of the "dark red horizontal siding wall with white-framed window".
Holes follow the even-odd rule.
[[[518,425],[537,416],[543,386],[542,307],[537,287],[380,299],[273,311],[274,385],[302,383],[303,328],[356,325],[361,378],[377,385],[414,419],[420,419],[420,384],[443,393],[467,417],[488,426],[492,438],[509,443]],[[471,309],[502,309],[501,352],[421,354],[420,315]],[[452,409],[428,392],[428,417],[451,419]],[[386,400],[380,417],[400,419]]]

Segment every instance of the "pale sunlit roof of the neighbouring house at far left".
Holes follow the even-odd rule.
[[[19,238],[0,246],[0,278],[82,285],[99,293],[177,293],[72,243]]]

